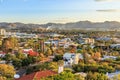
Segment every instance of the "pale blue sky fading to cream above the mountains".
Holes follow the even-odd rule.
[[[119,21],[120,0],[0,0],[0,22]]]

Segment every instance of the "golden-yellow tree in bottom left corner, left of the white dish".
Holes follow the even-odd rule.
[[[2,77],[13,80],[15,74],[14,67],[6,64],[0,64],[0,74]]]

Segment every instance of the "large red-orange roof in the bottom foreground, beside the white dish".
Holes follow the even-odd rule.
[[[25,75],[25,76],[23,76],[19,79],[16,79],[16,80],[40,80],[40,78],[52,76],[55,74],[57,74],[57,73],[54,71],[50,71],[50,70],[38,71],[38,72],[34,72],[31,74]]]

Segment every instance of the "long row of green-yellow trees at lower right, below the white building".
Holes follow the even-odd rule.
[[[99,72],[99,73],[107,73],[114,72],[115,68],[108,65],[99,65],[99,64],[78,64],[73,65],[73,70],[75,72]]]

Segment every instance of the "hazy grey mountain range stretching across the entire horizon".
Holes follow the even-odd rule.
[[[47,23],[47,24],[24,24],[24,23],[0,23],[0,28],[5,29],[18,29],[28,30],[35,28],[46,28],[46,29],[58,29],[58,30],[72,30],[72,29],[83,29],[83,30],[120,30],[120,22],[117,21],[105,21],[105,22],[90,22],[90,21],[79,21],[71,22],[66,24],[61,23]]]

